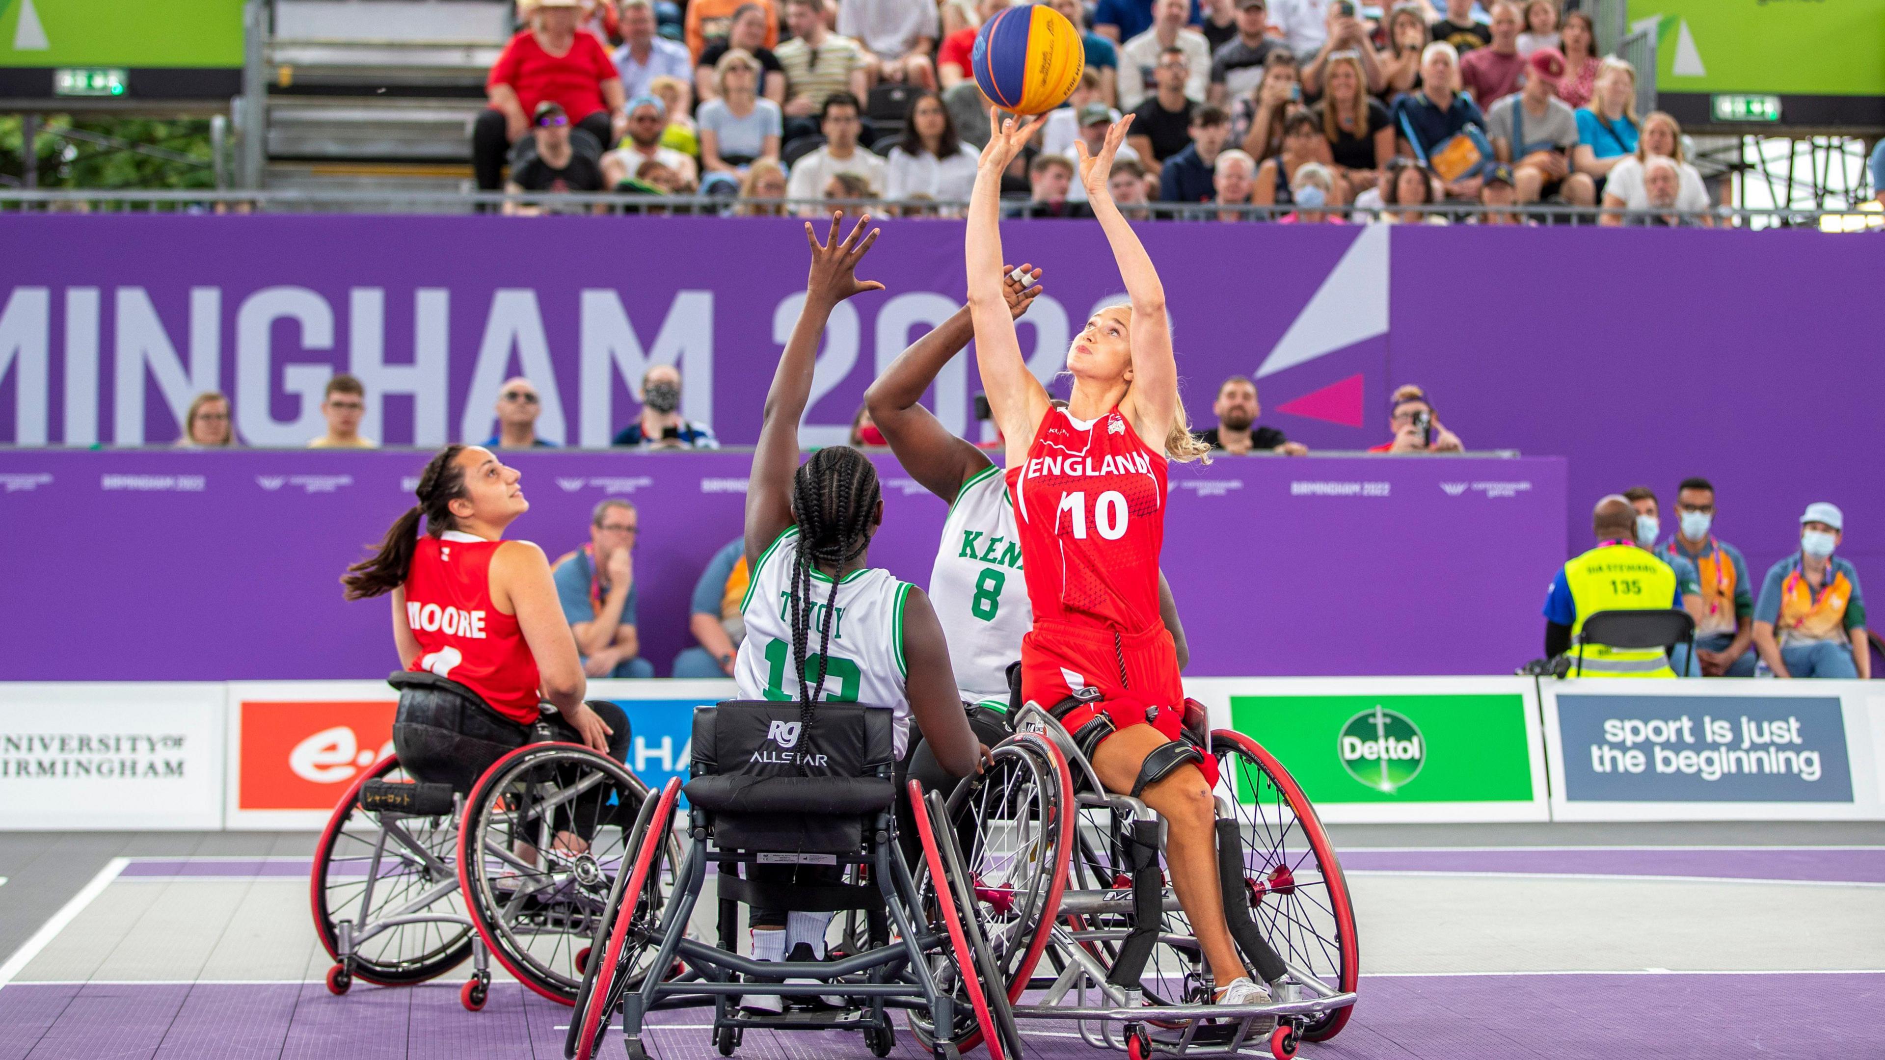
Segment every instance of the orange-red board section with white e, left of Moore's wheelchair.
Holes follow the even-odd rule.
[[[320,828],[349,785],[392,753],[385,681],[228,685],[228,828]]]

